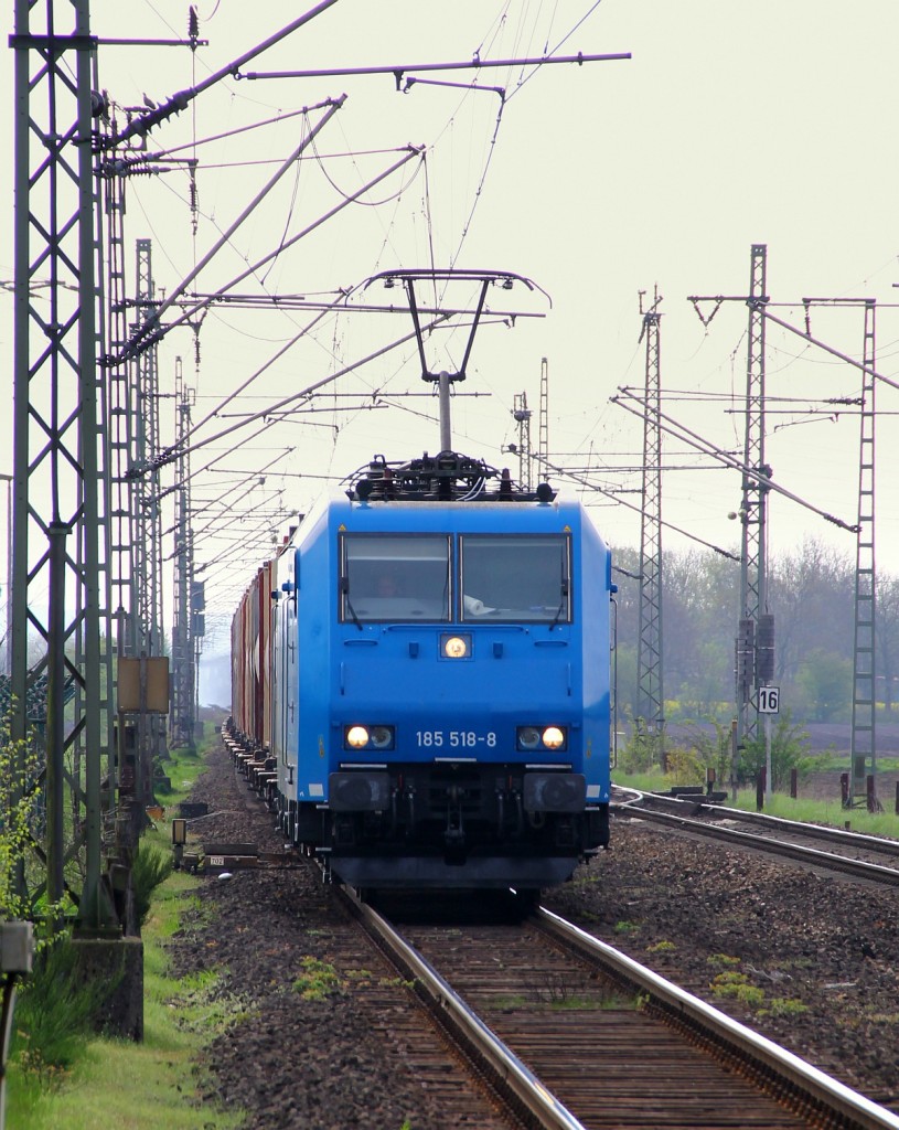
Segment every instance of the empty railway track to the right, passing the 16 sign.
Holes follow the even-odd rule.
[[[612,809],[618,816],[638,817],[856,879],[899,886],[897,840],[655,793],[636,793],[631,800],[614,802]],[[741,827],[735,827],[736,824]]]

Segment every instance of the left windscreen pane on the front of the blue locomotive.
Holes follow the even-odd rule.
[[[449,538],[344,533],[340,618],[351,624],[447,621]]]

